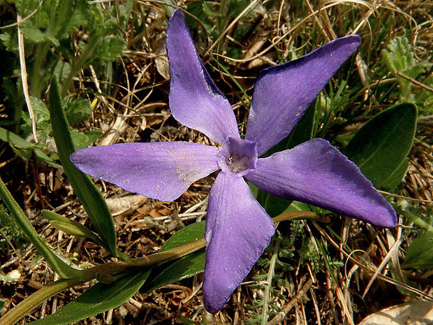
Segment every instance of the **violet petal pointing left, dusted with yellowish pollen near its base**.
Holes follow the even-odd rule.
[[[173,201],[219,169],[216,147],[186,142],[118,143],[71,154],[80,171],[130,192]]]

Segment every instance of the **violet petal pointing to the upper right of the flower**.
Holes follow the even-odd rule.
[[[337,38],[299,59],[260,72],[245,136],[256,141],[258,157],[288,136],[360,43],[358,35]]]

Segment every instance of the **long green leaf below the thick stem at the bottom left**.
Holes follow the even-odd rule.
[[[97,283],[64,308],[30,324],[73,324],[73,322],[78,322],[81,319],[116,308],[140,289],[149,273],[149,270],[143,270],[133,275],[126,275],[126,277],[110,284]]]

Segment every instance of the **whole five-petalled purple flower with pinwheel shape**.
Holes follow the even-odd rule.
[[[162,201],[178,198],[193,182],[221,170],[210,190],[203,296],[219,311],[269,245],[274,224],[246,179],[274,196],[317,205],[377,226],[396,223],[391,205],[355,164],[328,141],[313,139],[258,158],[288,136],[360,37],[337,38],[258,75],[247,135],[197,55],[181,10],[170,18],[170,109],[177,121],[205,133],[219,147],[185,142],[121,143],[78,150],[81,171]]]

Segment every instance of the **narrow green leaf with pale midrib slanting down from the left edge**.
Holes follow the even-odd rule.
[[[14,221],[20,226],[22,231],[26,234],[27,238],[31,241],[31,243],[36,247],[39,254],[41,254],[47,263],[50,264],[51,268],[56,271],[61,277],[81,277],[82,270],[78,270],[69,266],[65,261],[63,261],[59,256],[54,254],[52,250],[43,242],[41,237],[38,236],[36,230],[27,216],[24,214],[20,205],[18,205],[17,201],[13,198],[12,194],[10,194],[6,185],[4,185],[3,180],[0,178],[0,197],[3,200],[3,203],[6,205],[6,208],[9,209],[10,215],[13,217]]]

